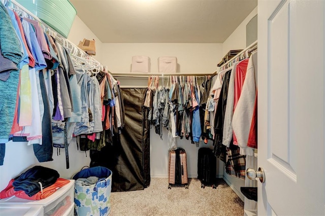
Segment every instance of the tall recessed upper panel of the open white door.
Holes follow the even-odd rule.
[[[287,5],[271,15],[269,25],[269,69],[270,80],[270,127],[272,145],[269,147],[269,157],[276,156],[277,161],[288,163],[288,10]],[[272,92],[272,94],[271,94]],[[279,105],[281,104],[281,105]]]

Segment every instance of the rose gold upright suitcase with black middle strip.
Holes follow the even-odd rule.
[[[169,189],[172,185],[185,185],[188,189],[186,152],[183,148],[169,151],[168,177]]]

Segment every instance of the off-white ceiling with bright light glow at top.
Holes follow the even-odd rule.
[[[257,0],[70,0],[103,43],[223,43]]]

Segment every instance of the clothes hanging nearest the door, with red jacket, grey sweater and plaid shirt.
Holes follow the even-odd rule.
[[[254,156],[254,148],[257,148],[257,73],[255,73],[257,64],[255,61],[257,62],[257,55],[252,54],[249,59],[233,64],[226,95],[228,99],[223,120],[223,137],[221,137],[223,145],[214,148],[215,154],[220,154],[220,159],[224,159],[226,173],[243,179],[245,179],[246,155],[249,156],[248,162],[250,162]],[[221,94],[223,94],[223,84],[224,80]],[[216,118],[220,115],[219,108],[222,109],[219,103]],[[217,124],[218,122],[216,127]],[[219,144],[218,137],[220,136],[216,131],[214,142],[216,144]],[[236,142],[240,144],[237,146]],[[224,152],[225,157],[222,157]]]

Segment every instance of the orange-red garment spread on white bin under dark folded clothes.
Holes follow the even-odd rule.
[[[34,196],[29,197],[24,191],[14,191],[14,186],[12,186],[12,183],[15,181],[15,179],[11,179],[9,181],[8,186],[2,190],[0,192],[0,199],[4,199],[7,197],[11,197],[11,196],[16,196],[18,198],[21,199],[28,199],[28,200],[40,200],[40,199],[44,199],[46,197],[49,197],[50,195],[52,195],[57,189],[63,187],[64,185],[67,185],[70,183],[69,180],[64,179],[64,178],[57,178],[56,182],[43,189],[43,194],[42,192],[38,192],[37,194],[35,194]]]

